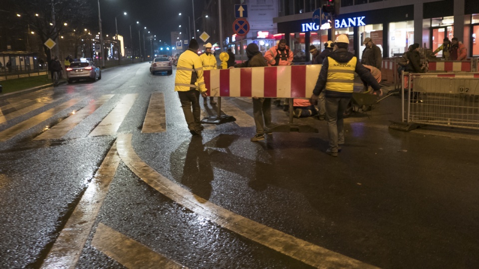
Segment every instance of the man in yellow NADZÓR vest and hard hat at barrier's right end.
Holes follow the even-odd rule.
[[[381,86],[371,73],[358,62],[358,59],[347,51],[349,38],[341,34],[336,38],[334,51],[324,59],[323,66],[314,87],[312,100],[317,100],[319,94],[326,92],[326,118],[328,122],[329,148],[326,150],[331,156],[337,157],[344,144],[344,111],[353,95],[354,72],[365,80],[375,91],[380,91]]]

